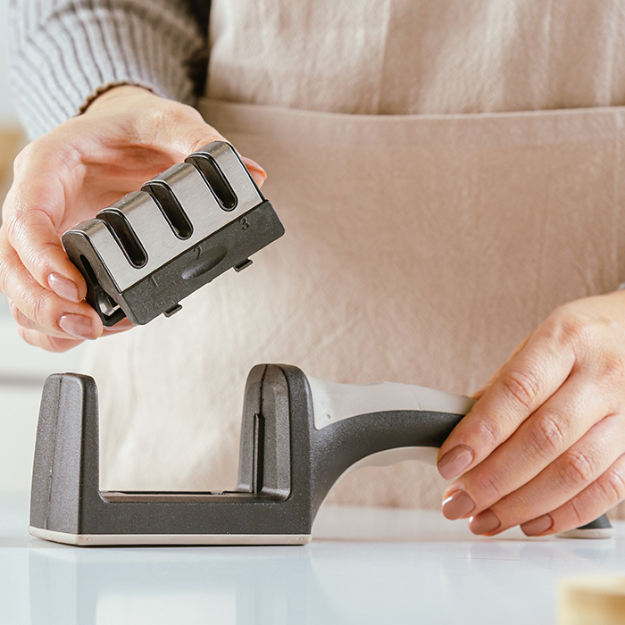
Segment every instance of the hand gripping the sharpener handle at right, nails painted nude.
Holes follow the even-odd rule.
[[[625,291],[558,308],[477,397],[438,454],[447,519],[542,536],[625,499]]]

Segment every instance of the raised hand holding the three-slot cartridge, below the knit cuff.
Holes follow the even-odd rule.
[[[27,343],[62,352],[131,327],[104,329],[61,235],[217,139],[196,109],[121,86],[22,150],[3,206],[0,291]],[[265,172],[243,161],[261,186]]]

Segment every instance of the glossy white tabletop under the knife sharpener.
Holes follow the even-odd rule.
[[[625,574],[609,540],[473,537],[438,512],[321,508],[308,546],[88,548],[30,537],[28,496],[0,495],[0,622],[555,622],[564,575]]]

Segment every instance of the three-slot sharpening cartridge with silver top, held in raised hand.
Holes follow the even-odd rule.
[[[171,316],[197,288],[284,234],[237,152],[215,141],[63,234],[105,327]]]

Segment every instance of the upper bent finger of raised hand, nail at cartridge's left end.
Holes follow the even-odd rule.
[[[58,148],[48,143],[42,141],[39,149],[25,150],[21,156],[4,202],[2,231],[41,287],[78,303],[87,294],[87,285],[65,254],[58,233],[65,210],[64,185],[68,182],[63,183],[60,172],[52,169],[58,162],[54,158]],[[63,168],[67,165],[65,162]]]

